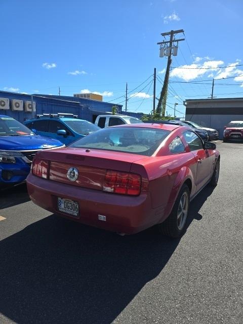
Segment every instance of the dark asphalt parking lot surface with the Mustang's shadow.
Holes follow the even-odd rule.
[[[0,323],[243,322],[243,143],[217,143],[218,186],[192,201],[181,239],[131,236],[0,197]]]

